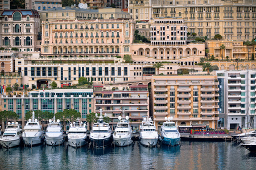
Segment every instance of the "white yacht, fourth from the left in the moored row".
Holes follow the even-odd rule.
[[[68,145],[72,147],[81,147],[86,145],[86,122],[84,124],[76,124],[76,122],[70,123],[68,130]]]

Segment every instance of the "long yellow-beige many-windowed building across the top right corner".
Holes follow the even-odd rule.
[[[256,36],[255,1],[130,1],[130,17],[151,20],[182,17],[188,32],[212,39],[220,34],[225,40],[251,40]]]

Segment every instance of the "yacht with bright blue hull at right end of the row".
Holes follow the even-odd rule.
[[[159,140],[164,145],[176,146],[180,143],[180,133],[175,126],[175,122],[172,122],[172,117],[165,117],[166,122],[163,123],[160,129],[161,136]]]

